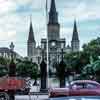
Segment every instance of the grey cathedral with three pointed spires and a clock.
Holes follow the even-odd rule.
[[[49,66],[52,69],[54,63],[59,62],[61,59],[61,49],[63,52],[78,52],[80,48],[80,40],[77,31],[77,23],[74,21],[73,35],[71,40],[71,46],[66,46],[66,39],[60,38],[60,23],[58,21],[58,12],[56,10],[55,0],[51,0],[50,10],[48,13],[47,24],[47,38],[48,38],[48,59]],[[34,38],[32,21],[30,22],[29,37],[27,41],[27,56],[33,62],[40,63],[42,54],[44,53],[44,59],[46,60],[47,51],[47,39],[41,39],[41,46],[36,47],[36,41]]]

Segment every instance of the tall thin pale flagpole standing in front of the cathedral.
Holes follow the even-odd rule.
[[[49,88],[48,0],[46,0],[46,33],[47,33],[47,88]]]

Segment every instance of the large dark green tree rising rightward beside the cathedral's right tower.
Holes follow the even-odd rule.
[[[76,73],[82,73],[82,69],[92,62],[98,60],[100,56],[100,38],[90,41],[83,45],[81,52],[65,54],[66,67]],[[90,59],[92,58],[92,60]]]

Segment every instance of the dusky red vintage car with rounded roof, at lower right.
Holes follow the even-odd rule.
[[[61,96],[100,96],[100,84],[91,80],[77,80],[67,88],[50,89],[49,97]]]

